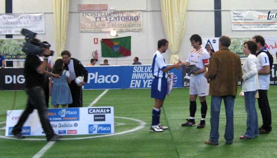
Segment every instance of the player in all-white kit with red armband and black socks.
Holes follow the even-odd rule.
[[[186,123],[182,123],[182,126],[195,126],[195,112],[196,112],[196,98],[199,96],[201,103],[201,121],[197,125],[197,128],[204,128],[206,126],[205,118],[207,114],[207,102],[206,96],[209,94],[209,83],[204,77],[204,72],[206,67],[209,66],[209,53],[201,47],[202,39],[200,35],[192,35],[191,44],[193,49],[191,50],[190,56],[187,62],[183,65],[189,67],[190,65],[195,65],[195,67],[200,68],[200,70],[194,71],[191,74],[190,79],[190,119],[187,119]]]

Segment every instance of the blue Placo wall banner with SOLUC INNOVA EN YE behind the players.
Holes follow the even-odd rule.
[[[152,66],[86,67],[87,83],[84,89],[151,88]],[[182,87],[182,70],[172,69],[177,77],[175,88]]]

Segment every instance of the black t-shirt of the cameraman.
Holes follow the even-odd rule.
[[[28,54],[24,65],[25,87],[31,88],[42,86],[44,84],[44,74],[38,73],[36,70],[41,65],[42,61],[37,55]]]

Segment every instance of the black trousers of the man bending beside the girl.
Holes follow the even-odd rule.
[[[71,81],[69,88],[72,95],[72,104],[69,104],[68,107],[83,107],[82,87],[78,86],[75,81]]]

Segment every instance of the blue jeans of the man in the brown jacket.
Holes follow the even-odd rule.
[[[219,125],[219,113],[220,113],[220,105],[222,99],[225,104],[225,112],[226,112],[226,126],[225,126],[225,135],[224,138],[226,143],[233,143],[234,139],[234,96],[212,96],[211,100],[211,133],[210,140],[213,142],[218,142],[219,133],[218,133],[218,125]]]

